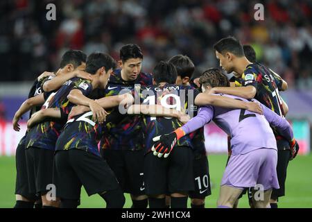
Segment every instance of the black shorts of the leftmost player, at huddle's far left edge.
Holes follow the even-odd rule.
[[[26,151],[25,151],[26,135],[19,141],[15,153],[16,164],[16,182],[15,194],[26,197],[28,200],[35,200],[35,193],[31,194],[28,188],[28,174],[26,165]]]

